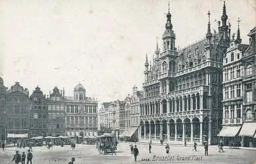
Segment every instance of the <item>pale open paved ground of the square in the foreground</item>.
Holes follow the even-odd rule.
[[[192,151],[192,147],[171,146],[170,154],[165,153],[165,146],[153,145],[152,153],[149,154],[147,145],[138,144],[140,155],[139,163],[250,163],[256,161],[255,150],[230,150],[225,149],[224,153],[219,153],[217,147],[209,147],[209,155],[204,156],[204,149],[198,146],[198,151]],[[11,161],[13,154],[17,150],[14,147],[7,148],[6,151],[0,151],[0,163],[14,163]],[[25,151],[27,149],[21,149]],[[20,151],[20,149],[19,149]],[[76,150],[71,150],[70,146],[61,148],[54,146],[50,150],[43,147],[33,147],[33,163],[68,163],[71,157],[75,157],[76,164],[82,163],[135,163],[130,153],[128,143],[120,143],[118,145],[117,155],[98,155],[98,150],[94,145],[76,145]],[[155,155],[155,157],[154,157]],[[194,156],[193,156],[194,155]],[[162,157],[159,157],[162,156]],[[165,156],[167,156],[165,158]],[[183,157],[183,158],[182,158]],[[150,161],[141,161],[142,158],[150,159]],[[159,158],[161,161],[159,161]],[[158,161],[152,161],[157,159]],[[167,159],[168,161],[162,161]],[[182,160],[185,159],[185,160]],[[49,161],[53,160],[53,161]],[[55,161],[56,160],[56,161]],[[137,163],[138,163],[137,162]]]

